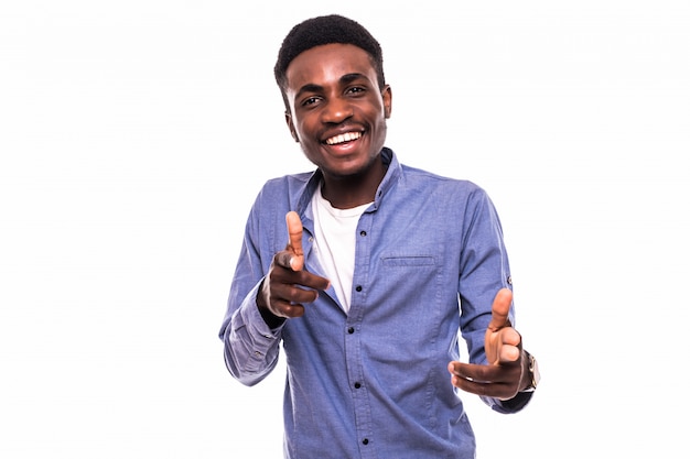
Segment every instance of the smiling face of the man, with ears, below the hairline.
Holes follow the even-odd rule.
[[[348,44],[316,46],[288,66],[285,120],[306,157],[333,176],[364,173],[384,146],[391,91],[369,55]]]

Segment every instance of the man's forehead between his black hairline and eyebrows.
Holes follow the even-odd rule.
[[[320,45],[300,53],[285,72],[289,90],[299,90],[304,85],[323,86],[349,74],[362,74],[376,80],[376,70],[367,52],[342,43]]]

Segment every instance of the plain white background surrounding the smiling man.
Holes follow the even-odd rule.
[[[331,12],[388,145],[502,215],[543,380],[464,397],[478,457],[686,453],[690,3],[43,0],[0,7],[0,457],[281,456],[284,368],[244,387],[216,334],[259,187],[311,170],[278,47]]]

